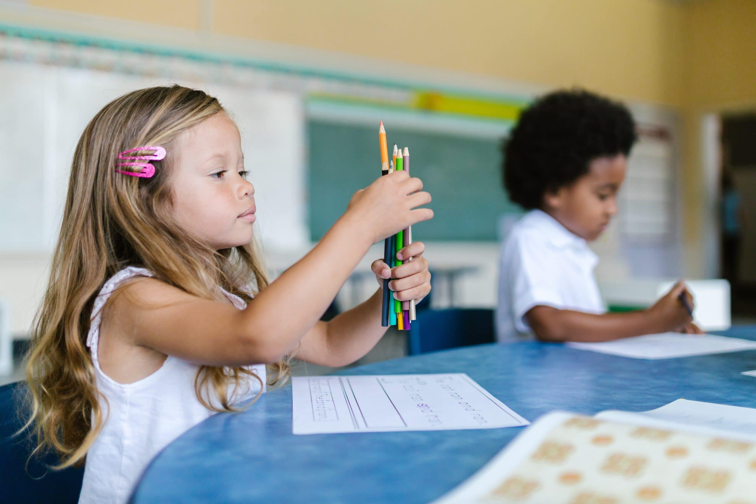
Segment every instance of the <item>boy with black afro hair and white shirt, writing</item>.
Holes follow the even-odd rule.
[[[497,339],[603,342],[657,332],[701,332],[677,283],[651,308],[607,314],[593,269],[596,240],[616,215],[637,140],[624,105],[588,91],[555,91],[520,116],[504,146],[503,181],[528,210],[500,253]]]

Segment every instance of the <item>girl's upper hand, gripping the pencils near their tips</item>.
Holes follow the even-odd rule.
[[[416,208],[431,200],[429,193],[420,192],[422,189],[423,181],[410,178],[407,172],[383,175],[352,196],[342,218],[354,222],[361,232],[367,233],[370,243],[376,243],[433,218],[431,209]]]

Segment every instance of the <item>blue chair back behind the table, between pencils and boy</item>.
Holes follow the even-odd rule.
[[[494,311],[490,308],[423,310],[411,323],[407,353],[425,354],[494,341]]]

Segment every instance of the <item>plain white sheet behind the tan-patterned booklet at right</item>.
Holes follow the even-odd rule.
[[[641,413],[608,410],[596,419],[756,441],[756,409],[678,399]]]

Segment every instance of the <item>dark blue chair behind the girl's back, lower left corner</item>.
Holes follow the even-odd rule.
[[[0,501],[76,504],[84,468],[54,471],[48,466],[57,464],[58,459],[51,453],[41,459],[30,459],[26,465],[31,441],[26,431],[13,435],[23,425],[18,400],[25,388],[24,382],[0,386]]]

